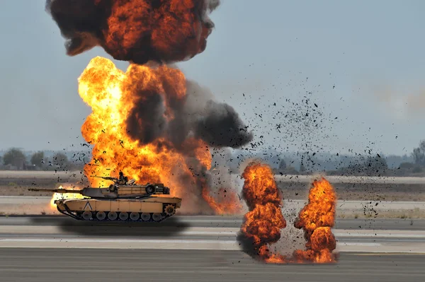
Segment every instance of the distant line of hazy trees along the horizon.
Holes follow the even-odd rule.
[[[89,162],[89,155],[81,158],[79,153],[77,158],[71,160],[66,154],[62,152],[54,153],[47,156],[44,151],[38,151],[30,155],[26,155],[19,148],[10,148],[4,155],[0,156],[0,169],[14,169],[14,170],[82,170],[84,162]],[[85,155],[83,153],[82,155]],[[259,153],[264,155],[264,153]],[[408,175],[421,175],[425,174],[425,140],[419,142],[419,146],[414,148],[409,160],[412,162],[399,163],[397,167],[389,168],[387,159],[380,154],[368,153],[365,155],[358,155],[351,157],[348,162],[340,163],[334,168],[319,168],[313,167],[311,163],[321,163],[314,157],[299,155],[300,159],[295,162],[292,159],[285,158],[278,152],[270,153],[263,158],[269,163],[276,174],[298,175],[310,174],[317,171],[325,171],[328,175],[395,175],[395,176],[408,176]],[[340,156],[343,157],[343,156]],[[346,158],[346,157],[344,157]],[[238,163],[243,159],[242,155],[232,156],[227,158],[232,171],[238,170]],[[349,159],[349,158],[348,158]],[[234,160],[232,162],[232,160]],[[222,163],[222,161],[220,162]],[[295,163],[298,163],[295,165]],[[3,165],[3,167],[1,166]],[[322,163],[323,165],[323,163]],[[424,175],[425,176],[425,175]]]

